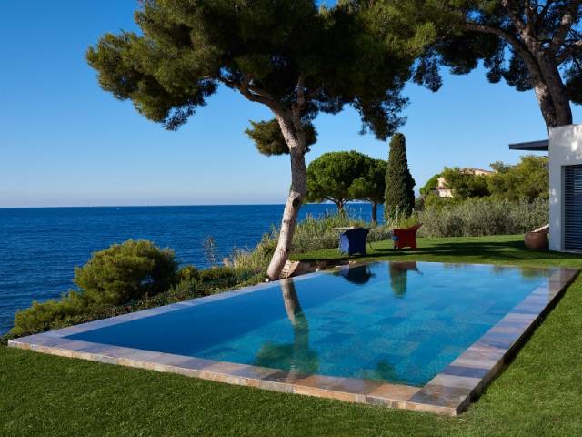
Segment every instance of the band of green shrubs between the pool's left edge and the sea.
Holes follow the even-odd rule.
[[[334,228],[345,226],[366,226],[366,222],[346,213],[308,216],[296,228],[294,250],[336,248],[339,232]],[[277,237],[273,229],[255,249],[236,249],[231,265],[202,270],[185,266],[176,271],[174,253],[148,241],[113,245],[95,252],[85,266],[75,269],[80,292],[70,291],[60,300],[34,302],[30,308],[18,311],[9,335],[55,330],[255,284],[265,277]],[[388,227],[371,229],[369,240],[389,238]]]

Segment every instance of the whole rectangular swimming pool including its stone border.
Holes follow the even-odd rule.
[[[339,384],[356,401],[375,401],[374,392],[392,388],[405,408],[437,399],[450,410],[454,401],[438,405],[443,392],[468,399],[574,275],[374,262],[99,320],[52,338],[100,361],[192,369],[203,378],[305,394],[326,395]],[[431,384],[439,390],[422,398]]]

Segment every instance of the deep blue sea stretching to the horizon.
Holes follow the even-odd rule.
[[[369,204],[349,208],[369,220]],[[300,219],[335,210],[306,205]],[[223,259],[235,248],[254,247],[271,226],[279,226],[282,212],[283,205],[0,208],[0,334],[12,327],[16,310],[74,289],[75,266],[95,250],[150,239],[174,249],[180,263],[203,268],[209,265],[208,237],[216,241],[216,258]]]

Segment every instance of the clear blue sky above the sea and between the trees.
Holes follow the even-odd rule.
[[[0,2],[0,208],[284,203],[288,157],[265,157],[244,134],[265,107],[220,88],[177,132],[97,85],[85,50],[105,32],[135,30],[135,0]],[[508,143],[547,137],[533,92],[487,83],[483,70],[445,72],[437,93],[406,86],[416,190],[443,167],[516,163]],[[582,118],[574,107],[574,120]],[[350,108],[315,121],[322,153],[387,158]]]

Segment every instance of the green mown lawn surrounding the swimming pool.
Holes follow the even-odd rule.
[[[490,262],[582,269],[574,255],[530,252],[518,237],[373,243],[366,259]],[[336,250],[298,256],[336,259]],[[0,347],[0,435],[582,435],[582,277],[514,362],[457,418],[260,391]]]

